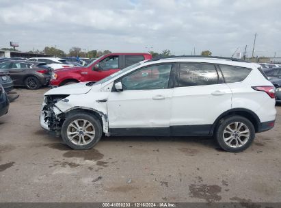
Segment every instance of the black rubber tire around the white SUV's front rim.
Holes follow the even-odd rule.
[[[68,128],[72,128],[72,126],[70,126],[70,124],[72,122],[74,122],[75,120],[81,120],[81,122],[82,122],[82,120],[87,120],[94,127],[94,131],[95,131],[94,138],[88,144],[85,144],[85,145],[75,144],[74,142],[76,142],[76,140],[79,140],[79,135],[75,136],[75,139],[73,140],[74,142],[71,142],[70,138],[68,138],[68,133],[67,133],[67,132],[69,132]],[[103,134],[103,128],[102,128],[101,122],[98,120],[98,118],[96,118],[94,115],[85,114],[83,112],[78,112],[76,114],[70,114],[69,116],[67,116],[66,120],[64,120],[64,124],[62,125],[61,131],[62,131],[62,140],[64,141],[64,143],[76,150],[86,150],[86,149],[92,148],[96,143],[98,143],[98,141],[101,139],[101,136]],[[75,131],[72,131],[72,133],[75,133]],[[86,135],[85,135],[85,137],[86,137]],[[90,138],[88,138],[88,139],[90,140]]]

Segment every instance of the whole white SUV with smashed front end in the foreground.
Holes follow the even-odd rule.
[[[139,62],[96,83],[49,90],[40,123],[75,149],[105,133],[214,135],[224,150],[243,151],[276,119],[275,89],[256,66],[219,57]]]

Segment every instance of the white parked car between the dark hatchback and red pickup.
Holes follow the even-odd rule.
[[[32,61],[32,62],[44,62],[51,66],[53,69],[57,68],[66,68],[66,67],[71,67],[74,66],[72,64],[68,64],[66,60],[58,58],[58,57],[32,57],[27,59],[27,61]]]

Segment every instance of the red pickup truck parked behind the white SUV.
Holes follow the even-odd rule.
[[[51,87],[80,81],[99,81],[122,68],[143,60],[152,59],[149,53],[109,53],[94,60],[88,66],[61,68],[54,71]]]

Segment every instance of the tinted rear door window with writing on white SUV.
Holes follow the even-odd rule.
[[[212,64],[180,64],[178,87],[205,86],[218,83],[217,70]]]

